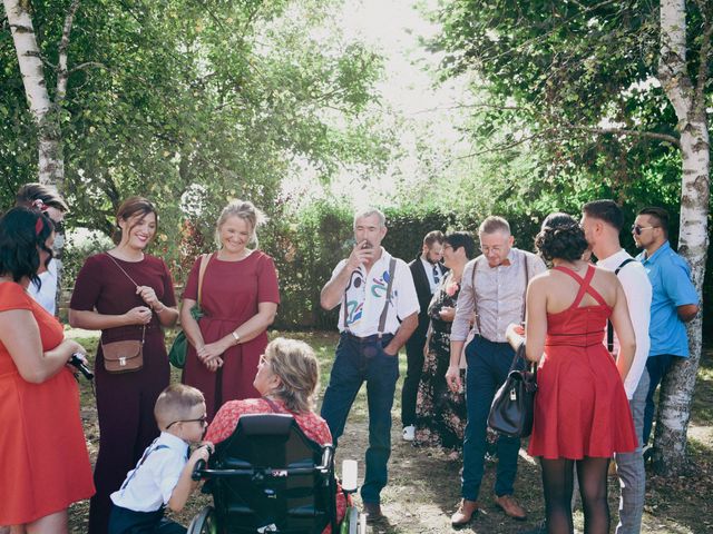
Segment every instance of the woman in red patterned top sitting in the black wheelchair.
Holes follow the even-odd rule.
[[[303,342],[279,337],[265,347],[253,382],[260,398],[231,400],[221,407],[208,427],[206,441],[218,444],[248,414],[290,414],[302,432],[320,445],[332,444],[326,422],[314,413],[314,396],[319,386],[319,364],[312,348]],[[336,521],[344,517],[346,498],[336,488]],[[328,526],[324,532],[330,532]]]

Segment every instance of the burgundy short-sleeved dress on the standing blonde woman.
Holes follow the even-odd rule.
[[[254,250],[240,261],[223,261],[213,255],[203,276],[198,320],[204,342],[217,342],[257,314],[260,303],[280,304],[275,264],[266,254]],[[188,276],[184,298],[198,299],[196,260]],[[258,397],[253,387],[260,355],[267,346],[267,333],[231,347],[223,354],[223,367],[212,373],[188,344],[183,383],[197,387],[205,396],[208,419],[227,400]]]

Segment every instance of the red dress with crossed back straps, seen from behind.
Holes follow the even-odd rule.
[[[612,308],[583,279],[555,267],[580,284],[569,308],[547,314],[545,356],[537,372],[535,422],[528,453],[547,459],[611,457],[636,448],[636,433],[622,378],[604,346]],[[585,294],[598,304],[579,307]]]

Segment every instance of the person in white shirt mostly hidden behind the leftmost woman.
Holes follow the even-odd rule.
[[[61,233],[62,220],[69,211],[57,190],[42,184],[22,186],[14,197],[14,205],[43,211],[55,222],[57,233]],[[56,315],[57,312],[58,267],[58,260],[51,259],[47,270],[39,275],[40,286],[30,284],[27,288],[30,296],[51,315]]]

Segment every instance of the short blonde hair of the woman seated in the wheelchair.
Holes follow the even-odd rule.
[[[310,412],[320,384],[320,366],[312,347],[304,342],[277,337],[265,347],[265,359],[281,383],[271,393],[291,412]]]

